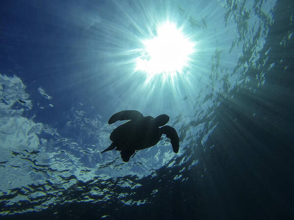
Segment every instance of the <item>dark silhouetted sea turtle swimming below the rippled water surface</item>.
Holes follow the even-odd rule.
[[[116,148],[116,151],[121,151],[123,161],[128,162],[135,150],[143,150],[154,146],[160,140],[162,134],[166,134],[171,139],[173,152],[177,153],[179,151],[177,132],[171,126],[163,126],[170,120],[168,115],[161,114],[153,118],[151,116],[144,117],[137,110],[123,110],[112,115],[108,124],[122,120],[130,121],[113,130],[109,137],[113,142],[101,153]],[[159,128],[159,126],[163,127]]]

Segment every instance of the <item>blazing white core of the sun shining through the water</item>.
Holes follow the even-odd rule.
[[[181,72],[194,52],[193,43],[172,23],[158,27],[157,37],[143,41],[144,55],[137,59],[137,70],[149,74]]]

